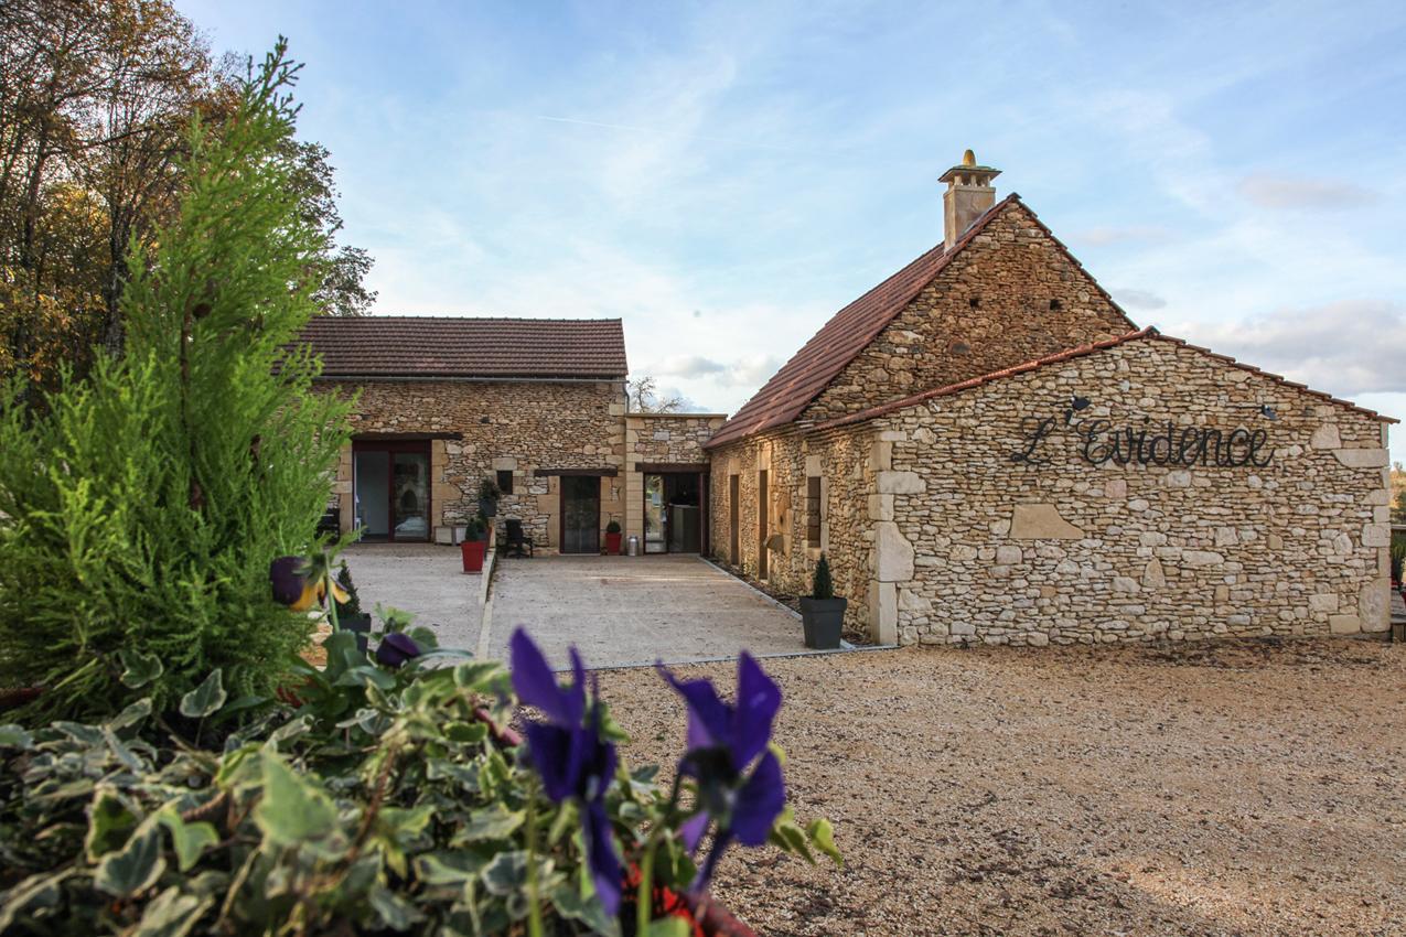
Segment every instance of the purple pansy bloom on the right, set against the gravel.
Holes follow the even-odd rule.
[[[699,891],[733,840],[761,846],[786,808],[782,764],[768,747],[782,691],[745,650],[737,662],[733,704],[724,702],[709,680],[679,680],[662,664],[659,673],[689,709],[689,749],[679,760],[679,774],[697,781],[700,811],[681,827],[683,844],[696,850],[709,823],[717,823],[713,848],[693,884]]]

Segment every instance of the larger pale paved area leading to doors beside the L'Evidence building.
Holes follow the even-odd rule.
[[[588,667],[803,653],[800,618],[697,556],[508,559],[492,589],[489,657],[523,625],[554,666]]]

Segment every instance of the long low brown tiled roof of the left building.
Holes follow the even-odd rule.
[[[318,316],[325,378],[623,378],[619,319]]]

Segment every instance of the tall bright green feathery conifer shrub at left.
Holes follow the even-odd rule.
[[[131,256],[125,357],[0,405],[0,673],[42,712],[166,711],[217,669],[269,695],[308,641],[269,562],[308,549],[350,403],[288,350],[325,247],[280,157],[292,77],[280,46],[221,136],[193,125],[179,218]]]

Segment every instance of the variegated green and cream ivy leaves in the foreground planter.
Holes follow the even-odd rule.
[[[536,893],[550,934],[634,933],[630,907],[609,919],[595,898],[578,808],[541,794],[505,729],[502,667],[344,652],[218,752],[173,740],[149,700],[0,726],[0,931],[520,934]],[[679,892],[696,867],[657,774],[620,764],[606,809],[626,860],[648,846]],[[787,811],[772,841],[838,861],[824,820]]]

